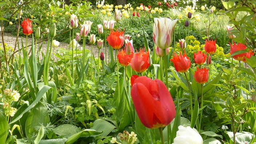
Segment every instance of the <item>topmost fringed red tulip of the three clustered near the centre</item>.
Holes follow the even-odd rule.
[[[120,49],[124,45],[124,31],[111,30],[107,37],[108,44],[114,49]]]

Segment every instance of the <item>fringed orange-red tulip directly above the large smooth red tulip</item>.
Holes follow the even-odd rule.
[[[145,52],[145,49],[140,49],[140,52],[133,54],[131,62],[129,63],[133,71],[141,73],[149,67],[149,52]]]

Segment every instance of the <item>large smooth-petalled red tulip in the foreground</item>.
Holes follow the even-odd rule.
[[[146,76],[131,80],[131,83],[131,96],[141,123],[147,128],[160,128],[171,123],[176,110],[165,84]]]

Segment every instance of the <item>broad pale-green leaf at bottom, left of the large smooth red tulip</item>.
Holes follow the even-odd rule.
[[[97,137],[105,137],[107,136],[115,127],[115,125],[109,123],[103,119],[97,119],[93,122],[93,126],[91,129],[94,129],[97,132],[102,132],[101,135]]]

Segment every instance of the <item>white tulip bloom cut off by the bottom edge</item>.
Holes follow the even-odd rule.
[[[180,125],[179,131],[172,144],[203,144],[203,138],[195,128],[183,127]]]

